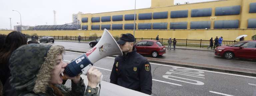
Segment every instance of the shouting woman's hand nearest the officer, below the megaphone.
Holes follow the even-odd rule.
[[[87,72],[88,86],[92,88],[96,88],[96,86],[100,82],[101,75],[102,73],[98,69],[92,66]]]

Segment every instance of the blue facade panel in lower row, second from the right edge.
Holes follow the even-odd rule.
[[[239,20],[217,20],[214,21],[214,29],[235,29],[239,26]]]

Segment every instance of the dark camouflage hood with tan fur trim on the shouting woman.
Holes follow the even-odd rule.
[[[46,93],[57,56],[63,46],[28,44],[16,49],[9,60],[10,84],[19,92]]]

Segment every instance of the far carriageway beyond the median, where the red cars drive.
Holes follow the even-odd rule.
[[[45,43],[40,43],[40,44],[45,44]],[[88,43],[55,41],[52,44],[62,45],[65,47],[65,49],[68,49],[68,50],[76,50],[76,51],[83,51],[83,52],[87,52],[91,49]],[[144,55],[144,56],[150,57],[147,55]],[[247,59],[227,60],[219,56],[215,56],[214,52],[210,52],[210,51],[197,51],[197,50],[184,50],[184,49],[167,50],[166,54],[158,58],[183,61],[183,62],[238,67],[238,68],[245,68],[245,69],[256,69],[256,60],[247,60]]]

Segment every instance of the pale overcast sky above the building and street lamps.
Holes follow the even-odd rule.
[[[0,0],[0,28],[12,29],[20,22],[22,25],[53,25],[53,10],[57,11],[56,22],[58,25],[72,22],[72,14],[101,13],[134,9],[135,0]],[[204,2],[215,0],[174,0],[174,3]],[[136,9],[149,8],[151,0],[136,0]]]

